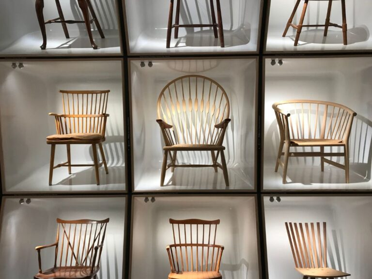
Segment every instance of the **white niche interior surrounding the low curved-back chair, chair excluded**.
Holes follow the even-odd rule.
[[[276,62],[272,66],[271,59],[265,61],[263,189],[372,189],[372,58],[284,58],[281,66],[278,59]],[[280,140],[272,105],[292,99],[335,102],[357,113],[349,140],[349,183],[345,183],[344,170],[325,164],[322,172],[320,157],[311,156],[290,157],[287,183],[282,183],[283,169],[279,166],[275,172]],[[342,147],[333,147],[332,150],[343,151]],[[297,151],[315,152],[319,148],[297,148]],[[343,157],[333,157],[333,160],[344,163]]]

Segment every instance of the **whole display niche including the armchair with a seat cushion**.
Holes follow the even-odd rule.
[[[3,192],[124,191],[122,62],[22,66],[0,63]]]

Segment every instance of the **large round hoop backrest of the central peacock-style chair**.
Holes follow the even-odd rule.
[[[215,144],[215,124],[229,118],[230,103],[215,80],[199,75],[173,79],[157,100],[157,118],[173,125],[174,142]]]

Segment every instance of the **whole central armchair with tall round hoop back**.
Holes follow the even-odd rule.
[[[213,79],[188,75],[173,79],[161,91],[157,100],[157,120],[165,146],[160,186],[166,170],[171,168],[221,168],[229,186],[225,147],[222,146],[230,122],[230,103],[225,90]],[[209,151],[211,165],[178,165],[178,151]],[[217,154],[215,153],[217,152]],[[171,154],[173,153],[173,154]],[[168,155],[171,163],[167,165]],[[221,155],[221,164],[217,163]]]

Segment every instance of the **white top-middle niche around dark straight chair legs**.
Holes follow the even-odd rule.
[[[171,37],[168,40],[169,14],[172,15],[172,25],[177,24],[177,1],[173,3],[173,13],[170,12],[170,0],[124,2],[128,51],[132,54],[257,51],[260,0],[220,1],[223,32],[222,29],[219,31],[217,1],[178,1],[179,24],[188,26],[179,27],[176,38],[177,28],[171,29]],[[211,2],[214,8],[211,8]],[[215,31],[213,27],[190,27],[195,24],[213,25],[214,22]],[[224,40],[221,40],[221,36]]]

